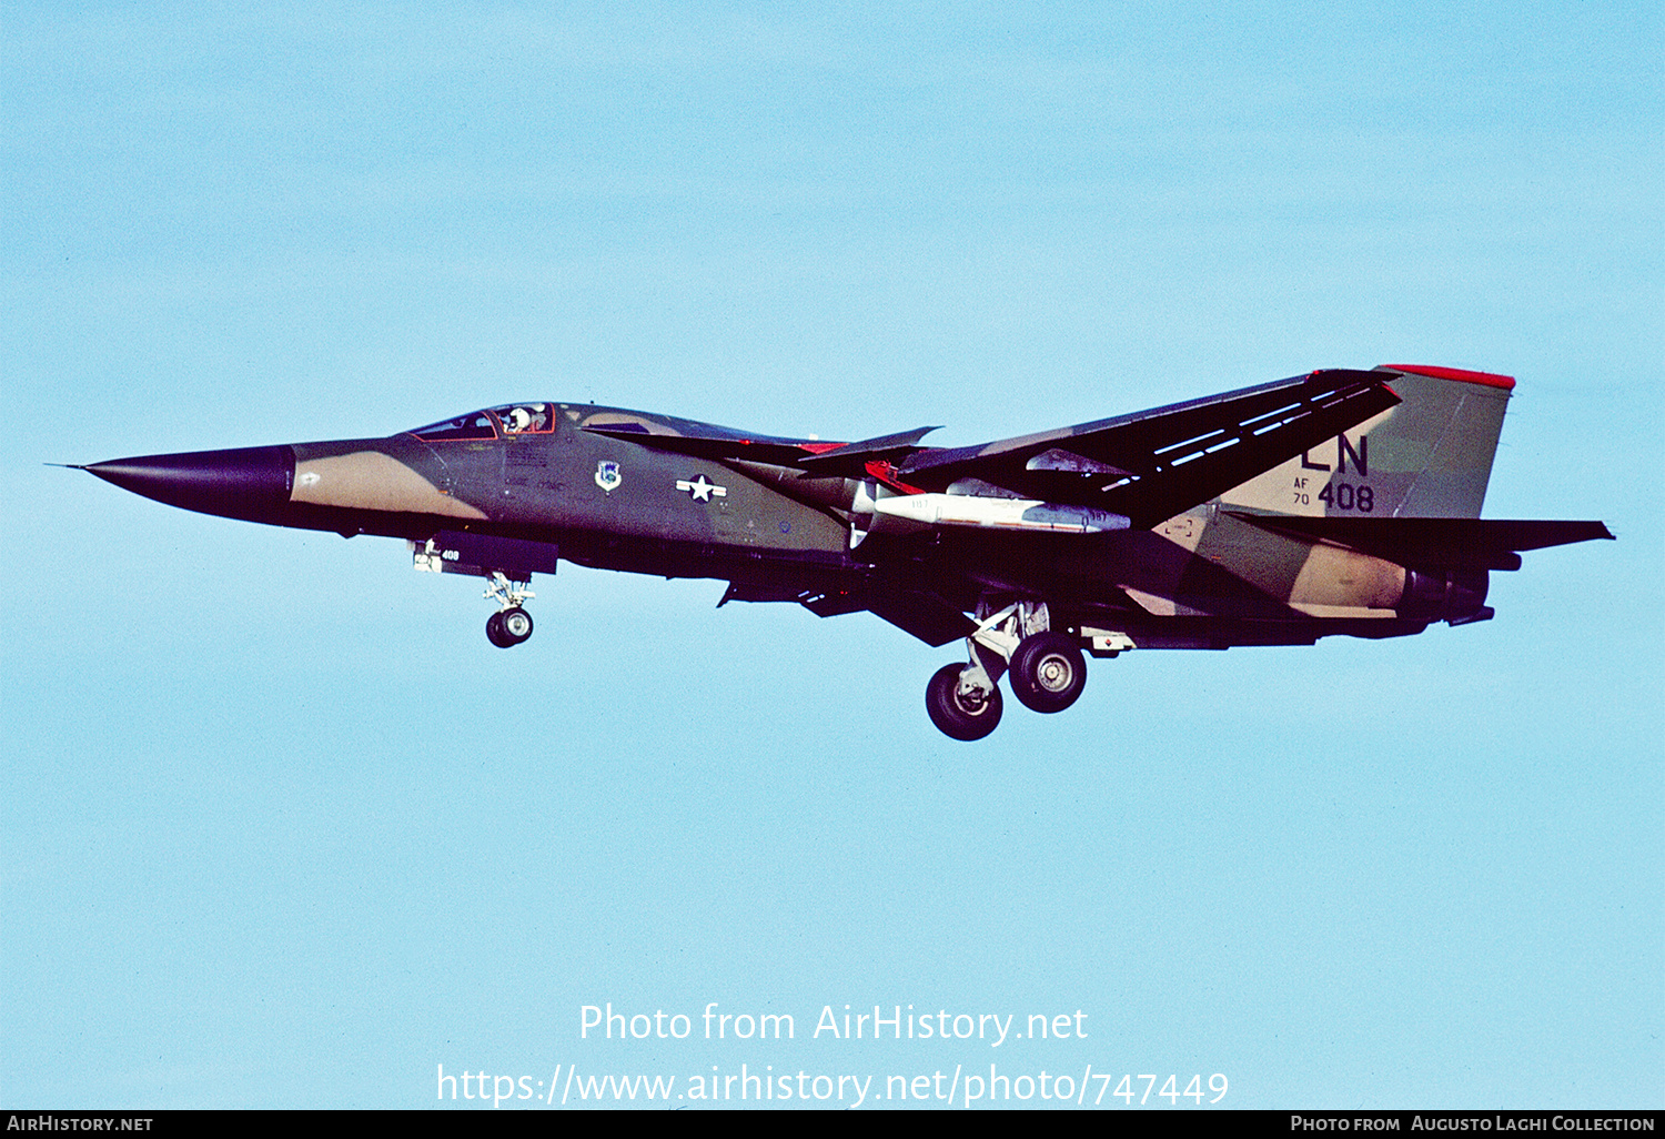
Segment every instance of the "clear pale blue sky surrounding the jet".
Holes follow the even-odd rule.
[[[1665,1097],[1658,5],[13,2],[0,48],[5,1106]],[[1487,516],[1620,541],[972,746],[957,649],[872,616],[563,568],[503,653],[398,543],[43,466],[519,398],[962,445],[1382,361],[1518,376]],[[608,1001],[798,1039],[579,1041]],[[1087,1039],[813,1039],[846,1002]]]

